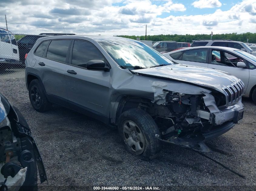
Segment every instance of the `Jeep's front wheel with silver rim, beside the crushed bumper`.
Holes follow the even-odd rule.
[[[135,157],[150,161],[158,156],[161,143],[155,135],[160,132],[154,119],[144,110],[123,112],[118,119],[118,132],[125,149]]]

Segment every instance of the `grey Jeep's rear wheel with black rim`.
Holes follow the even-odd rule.
[[[51,103],[47,100],[44,88],[38,79],[30,82],[28,94],[30,103],[36,111],[44,112],[51,108]]]

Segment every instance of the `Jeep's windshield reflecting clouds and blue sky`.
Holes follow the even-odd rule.
[[[99,44],[120,66],[135,66],[138,69],[174,64],[164,55],[138,41],[109,41]]]

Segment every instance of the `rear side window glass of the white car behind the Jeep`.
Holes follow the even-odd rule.
[[[207,49],[187,50],[182,55],[181,60],[192,62],[206,62]]]

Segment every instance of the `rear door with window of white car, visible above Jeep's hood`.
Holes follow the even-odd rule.
[[[208,48],[185,50],[177,62],[194,66],[208,67]]]

